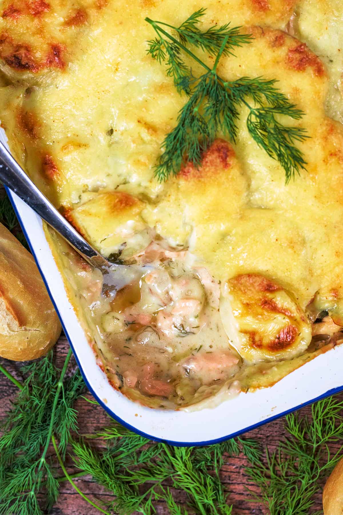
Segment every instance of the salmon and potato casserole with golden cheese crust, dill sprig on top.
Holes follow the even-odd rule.
[[[341,0],[4,0],[13,156],[113,263],[46,237],[97,363],[147,406],[343,341]]]

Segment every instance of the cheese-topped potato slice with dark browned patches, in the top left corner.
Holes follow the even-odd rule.
[[[37,82],[49,70],[64,71],[78,54],[79,39],[105,6],[102,0],[5,0],[1,6],[0,56],[13,79]]]

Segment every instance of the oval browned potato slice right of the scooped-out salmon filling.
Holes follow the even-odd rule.
[[[220,314],[231,345],[251,363],[297,356],[311,342],[311,325],[293,295],[259,274],[222,285]]]

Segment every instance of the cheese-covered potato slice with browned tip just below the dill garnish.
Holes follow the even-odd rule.
[[[170,179],[158,204],[150,203],[143,218],[171,244],[185,245],[202,258],[215,259],[215,248],[246,201],[248,180],[232,146],[216,140],[203,155],[202,166],[191,163]],[[192,235],[192,236],[191,236]],[[209,262],[204,256],[204,264]]]

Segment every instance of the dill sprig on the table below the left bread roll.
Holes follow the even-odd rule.
[[[57,500],[59,483],[47,450],[54,432],[65,454],[70,430],[77,429],[72,406],[84,387],[79,372],[62,386],[70,356],[71,351],[62,371],[53,365],[52,352],[22,368],[28,377],[1,427],[1,515],[42,515],[38,495],[43,486],[46,508]]]

